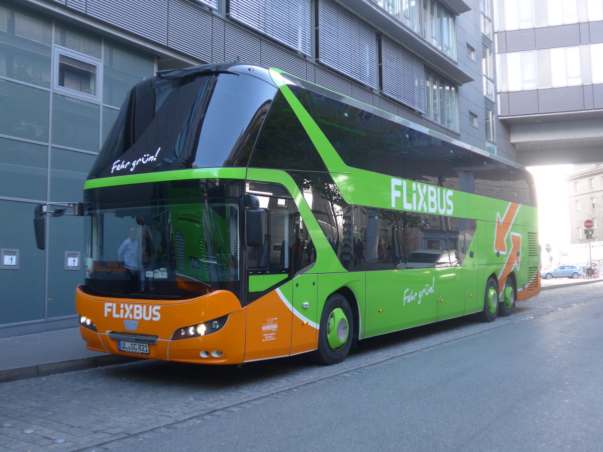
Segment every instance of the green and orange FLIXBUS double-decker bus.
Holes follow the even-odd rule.
[[[87,348],[239,364],[540,291],[521,166],[278,69],[160,71],[128,93],[74,208]]]

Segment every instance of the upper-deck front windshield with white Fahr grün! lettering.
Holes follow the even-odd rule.
[[[90,177],[246,166],[248,142],[275,92],[232,74],[144,81],[128,94]]]

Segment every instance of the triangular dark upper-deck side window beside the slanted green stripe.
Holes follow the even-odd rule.
[[[300,100],[303,101],[305,95],[301,94]],[[249,166],[327,171],[308,133],[280,91],[268,110]]]

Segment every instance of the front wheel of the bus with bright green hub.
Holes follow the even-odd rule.
[[[353,315],[346,297],[335,293],[324,303],[318,330],[318,350],[315,360],[332,365],[343,361],[352,346],[354,333]]]

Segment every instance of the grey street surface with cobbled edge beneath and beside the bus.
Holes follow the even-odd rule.
[[[0,450],[601,450],[602,289],[367,339],[335,366],[136,362],[3,383]]]

